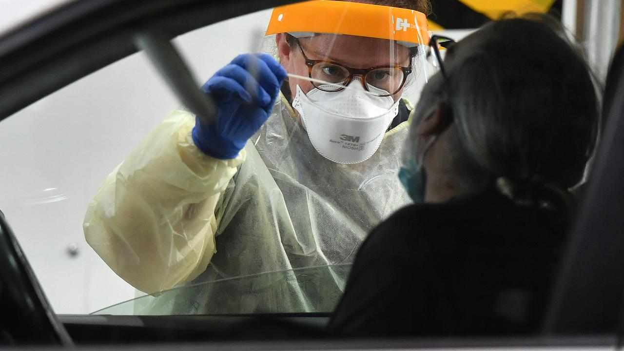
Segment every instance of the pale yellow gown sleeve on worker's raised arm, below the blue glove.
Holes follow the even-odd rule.
[[[114,272],[147,293],[194,279],[215,253],[216,211],[246,152],[220,160],[191,137],[195,117],[173,111],[104,180],[83,229]]]

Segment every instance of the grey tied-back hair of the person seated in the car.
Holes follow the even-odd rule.
[[[582,180],[598,132],[592,74],[565,34],[537,19],[491,22],[451,47],[448,81],[431,79],[414,111],[422,118],[425,104],[449,105],[445,157],[464,192],[568,189]]]

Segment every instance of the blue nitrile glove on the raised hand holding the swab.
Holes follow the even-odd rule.
[[[195,117],[195,145],[217,159],[236,157],[270,116],[285,78],[286,70],[267,54],[237,56],[202,87],[213,96],[217,120],[209,126]]]

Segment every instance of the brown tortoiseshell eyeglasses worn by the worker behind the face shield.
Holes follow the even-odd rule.
[[[376,96],[392,96],[401,91],[407,76],[412,72],[411,67],[398,65],[356,69],[333,61],[311,60],[303,51],[301,43],[298,40],[296,43],[308,66],[308,75],[313,79],[312,85],[322,91],[341,91],[353,81],[354,76],[361,76],[364,90]]]

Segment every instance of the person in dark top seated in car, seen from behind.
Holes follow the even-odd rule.
[[[590,69],[556,24],[503,19],[448,46],[399,172],[414,204],[361,245],[334,333],[539,332],[599,121]]]

